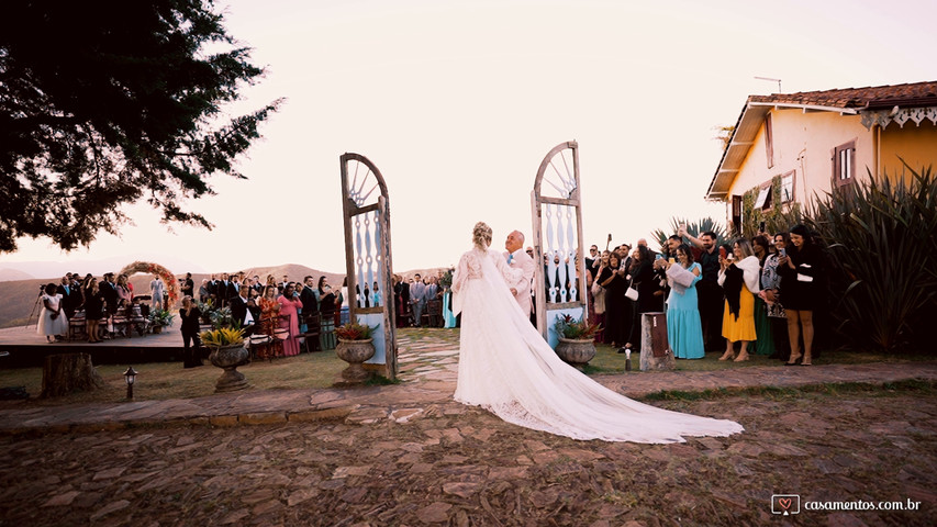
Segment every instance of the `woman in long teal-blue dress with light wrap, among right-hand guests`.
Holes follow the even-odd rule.
[[[693,251],[687,244],[677,248],[677,262],[659,261],[659,265],[667,269],[667,282],[670,284],[670,296],[667,301],[667,339],[673,356],[678,359],[702,359],[705,349],[696,282],[702,278],[703,268],[693,261]]]

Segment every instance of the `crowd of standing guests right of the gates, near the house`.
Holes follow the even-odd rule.
[[[640,315],[666,312],[677,358],[744,361],[749,354],[812,365],[813,313],[824,302],[824,255],[806,227],[716,245],[685,227],[661,253],[639,239],[585,258],[590,313],[604,330],[598,341],[640,349]],[[754,343],[752,349],[749,344]],[[738,351],[736,352],[736,346]]]

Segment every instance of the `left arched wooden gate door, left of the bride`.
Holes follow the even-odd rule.
[[[350,319],[375,332],[375,356],[366,365],[397,378],[393,266],[390,248],[390,204],[380,170],[365,156],[344,154],[342,203],[345,223],[345,266]],[[380,192],[375,191],[380,189]],[[378,294],[375,294],[375,283]],[[377,305],[375,305],[377,304]]]

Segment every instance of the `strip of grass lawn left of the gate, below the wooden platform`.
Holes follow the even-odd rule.
[[[222,369],[208,360],[201,368],[183,369],[181,362],[148,362],[134,365],[137,371],[133,389],[134,401],[192,399],[211,395]],[[289,390],[300,388],[328,388],[347,367],[334,351],[301,354],[297,357],[256,361],[237,368],[254,390]],[[88,402],[125,401],[126,366],[99,366],[98,373],[108,386],[94,392],[75,393],[48,401],[32,400],[36,404],[60,405]],[[31,397],[42,393],[42,368],[0,370],[0,386],[25,386]]]

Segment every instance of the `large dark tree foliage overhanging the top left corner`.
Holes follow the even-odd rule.
[[[211,0],[5,2],[0,16],[0,253],[118,234],[121,205],[211,228],[187,199],[233,164],[280,100],[224,113],[264,69]]]

